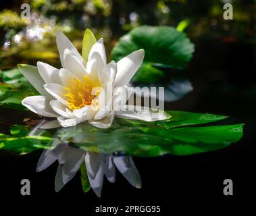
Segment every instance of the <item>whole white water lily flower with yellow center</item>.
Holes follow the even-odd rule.
[[[132,94],[127,84],[143,62],[144,50],[134,51],[118,63],[111,61],[107,64],[103,38],[100,38],[91,48],[86,63],[62,32],[57,32],[56,42],[61,69],[43,62],[38,62],[37,68],[18,65],[41,94],[26,97],[22,105],[44,117],[57,118],[63,127],[88,121],[98,128],[109,128],[115,113],[126,105]],[[152,119],[150,111],[141,114],[141,111],[131,115],[122,111],[118,117]],[[154,120],[167,117],[159,115]]]

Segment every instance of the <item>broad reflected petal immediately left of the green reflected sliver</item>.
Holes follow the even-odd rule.
[[[67,184],[78,171],[82,161],[84,160],[84,151],[76,151],[66,163],[63,164],[62,180]]]

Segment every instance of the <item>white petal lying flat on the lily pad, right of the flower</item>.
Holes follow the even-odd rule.
[[[169,119],[170,115],[160,109],[124,105],[122,110],[116,111],[116,117],[125,119],[139,119],[143,121],[161,121]]]

